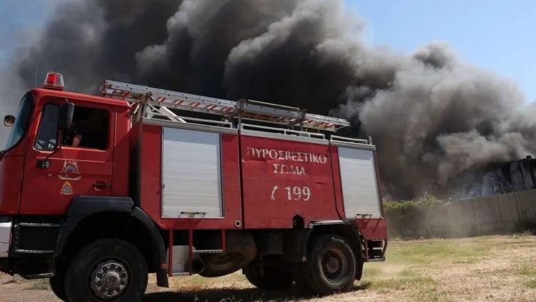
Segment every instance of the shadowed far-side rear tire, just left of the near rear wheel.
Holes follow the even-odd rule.
[[[284,270],[284,263],[264,266],[260,259],[245,266],[242,271],[249,283],[263,290],[282,290],[288,288],[294,281],[291,272]]]

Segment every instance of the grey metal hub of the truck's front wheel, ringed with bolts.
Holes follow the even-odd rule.
[[[121,261],[98,263],[91,273],[89,285],[100,299],[114,299],[124,292],[129,283],[129,273]]]

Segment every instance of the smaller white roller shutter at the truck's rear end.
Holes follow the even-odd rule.
[[[361,214],[381,217],[372,151],[339,147],[339,166],[346,218]]]

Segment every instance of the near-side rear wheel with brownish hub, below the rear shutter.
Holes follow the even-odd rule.
[[[315,294],[349,290],[355,280],[356,261],[352,248],[338,235],[323,235],[313,241],[302,263],[307,288]]]

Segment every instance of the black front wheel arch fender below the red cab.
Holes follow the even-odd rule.
[[[168,287],[166,250],[159,228],[129,197],[75,197],[60,227],[54,255],[62,262],[91,241],[117,238],[129,241],[146,258],[157,285]]]

